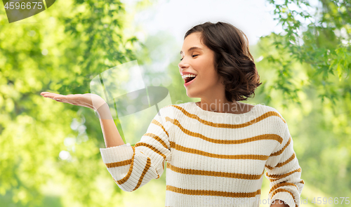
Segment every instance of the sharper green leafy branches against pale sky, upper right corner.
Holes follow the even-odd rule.
[[[282,91],[284,98],[299,104],[297,92],[309,85],[320,88],[318,96],[322,102],[328,98],[336,104],[339,97],[345,98],[351,89],[351,1],[322,0],[322,10],[316,13],[310,13],[312,7],[305,0],[285,0],[282,4],[274,0],[269,2],[275,7],[275,19],[284,29],[280,34],[269,36],[279,55],[287,55],[279,58],[279,55],[268,53],[265,57],[279,75],[270,90]],[[298,74],[293,74],[293,60],[310,67],[307,81],[291,82],[299,78]],[[338,76],[338,84],[333,83],[331,75]]]

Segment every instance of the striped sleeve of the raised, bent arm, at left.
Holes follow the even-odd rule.
[[[147,132],[134,146],[129,143],[117,147],[100,148],[102,161],[114,182],[124,191],[132,192],[164,172],[164,162],[171,159],[168,126],[162,108]]]

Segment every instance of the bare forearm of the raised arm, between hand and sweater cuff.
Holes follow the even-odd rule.
[[[114,124],[110,108],[107,103],[99,107],[96,112],[98,112],[106,147],[108,148],[124,145],[125,143],[119,134],[116,124]]]

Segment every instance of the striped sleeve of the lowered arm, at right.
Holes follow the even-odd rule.
[[[265,177],[270,180],[270,202],[279,199],[290,207],[298,207],[304,186],[304,181],[300,179],[302,170],[293,151],[293,140],[286,121],[280,120],[277,128],[282,143],[277,145],[265,164]]]

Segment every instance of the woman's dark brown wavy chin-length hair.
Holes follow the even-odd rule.
[[[189,29],[184,39],[194,32],[200,32],[202,44],[215,52],[215,69],[223,77],[225,98],[234,102],[255,96],[262,82],[244,32],[227,22],[204,22]]]

